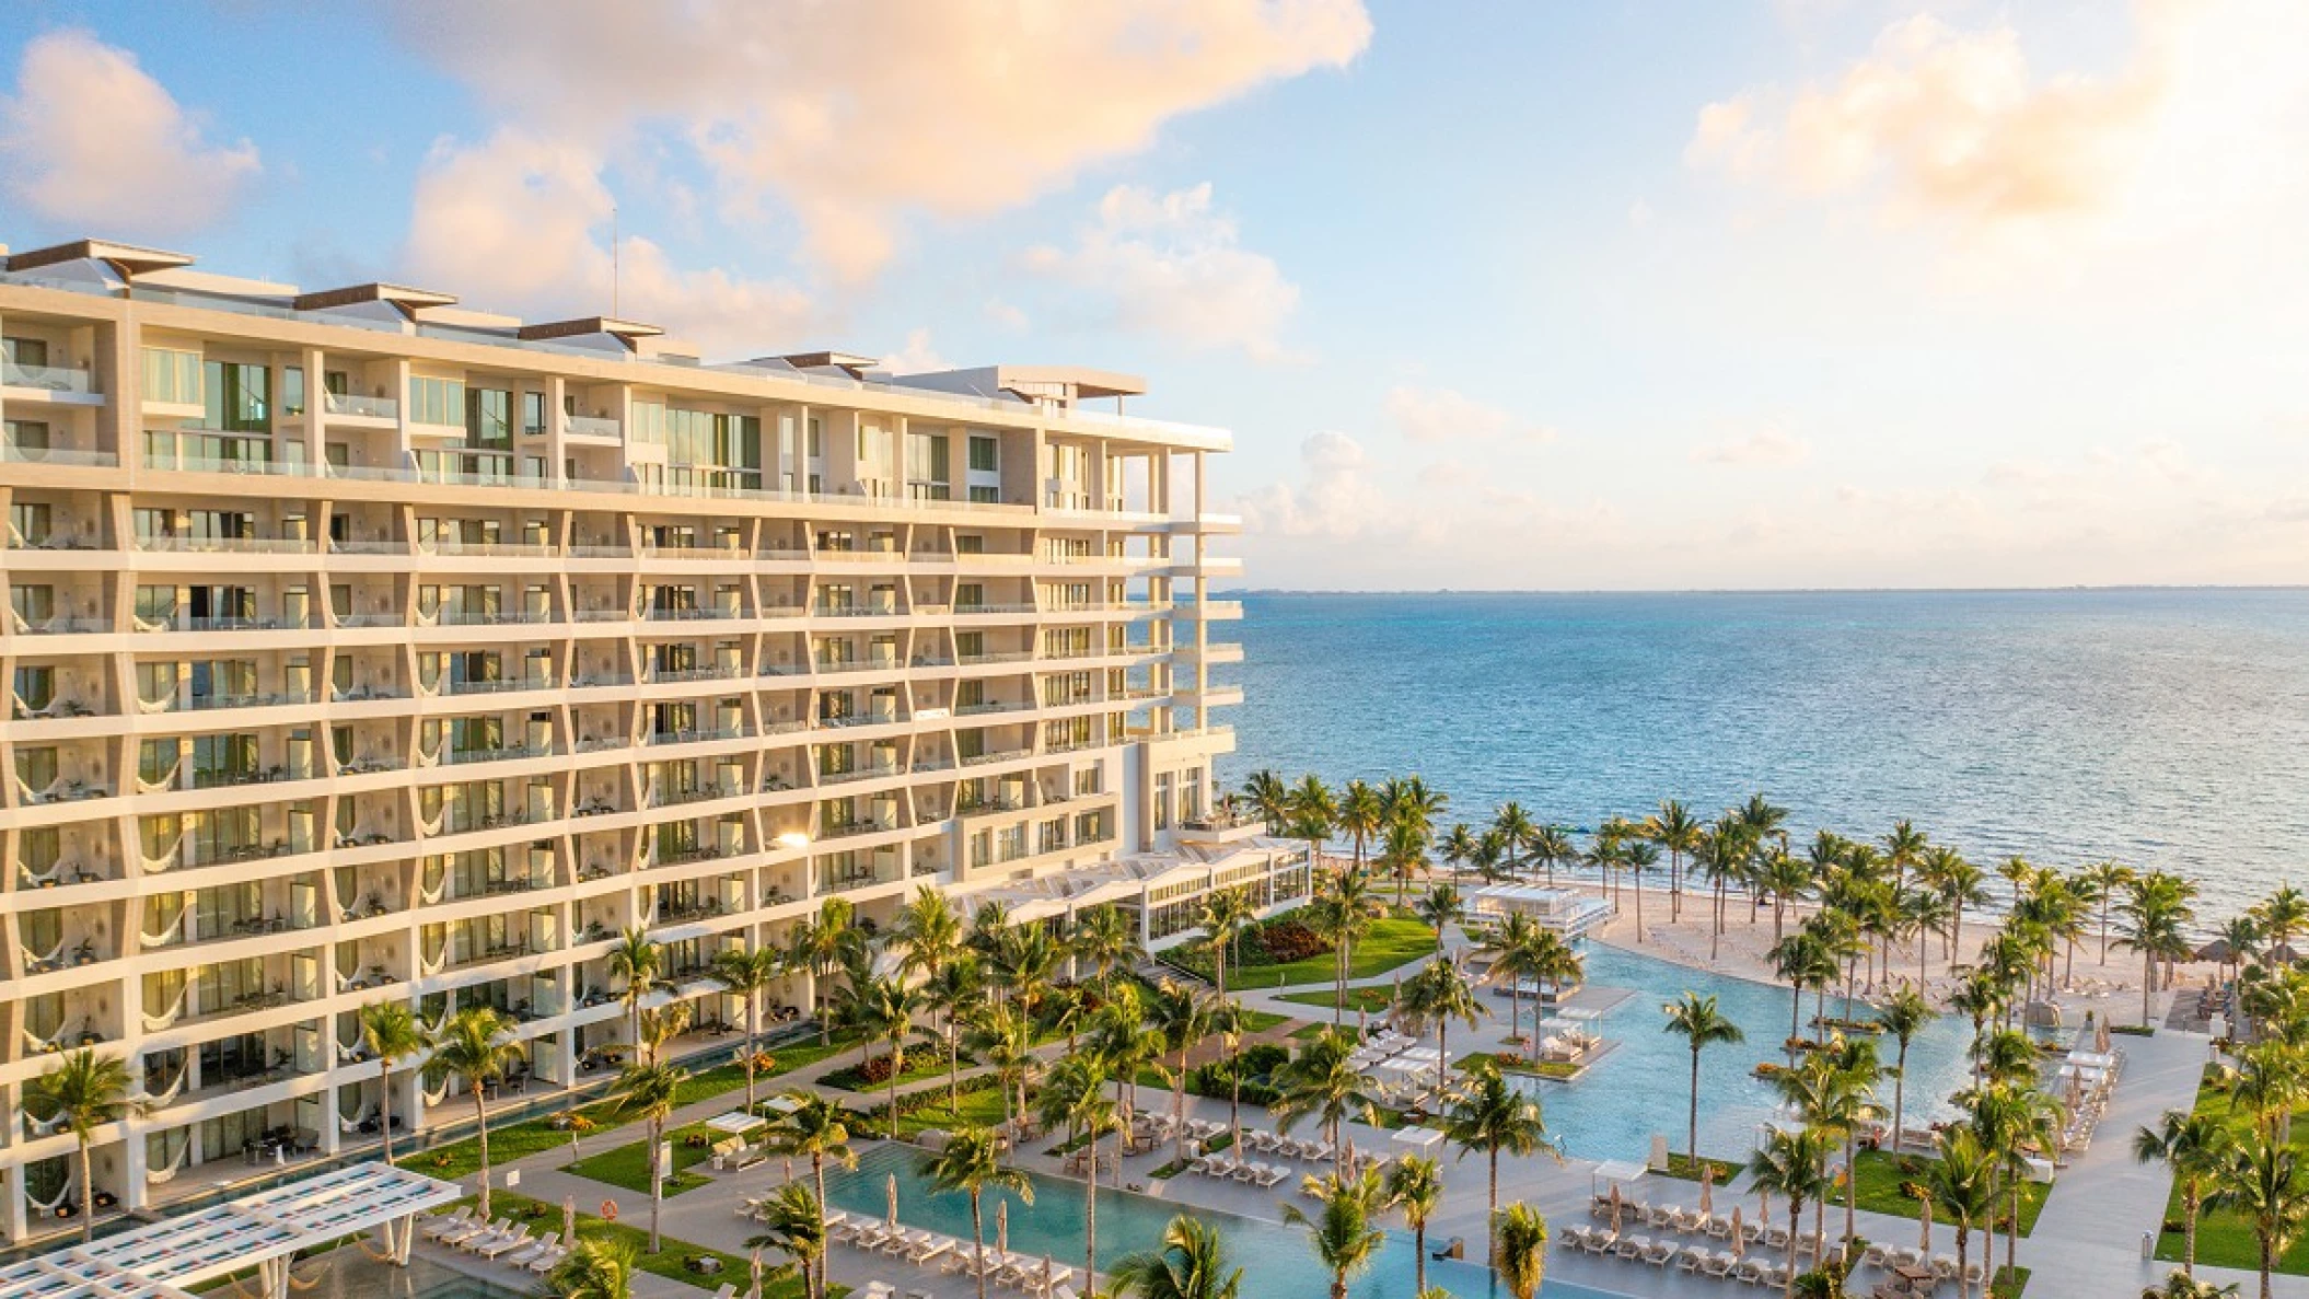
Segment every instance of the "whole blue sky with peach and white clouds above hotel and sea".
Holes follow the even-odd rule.
[[[2309,581],[2297,0],[16,0],[0,240],[1141,374],[1261,588]]]

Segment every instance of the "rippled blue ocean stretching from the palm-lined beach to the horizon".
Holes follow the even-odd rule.
[[[1427,778],[1593,826],[1766,794],[1977,863],[2115,858],[2200,923],[2309,884],[2309,591],[1245,598],[1228,787]]]

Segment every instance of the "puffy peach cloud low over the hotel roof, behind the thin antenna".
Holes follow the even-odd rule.
[[[718,348],[797,339],[810,300],[783,281],[683,270],[640,235],[619,240],[612,295],[610,192],[582,145],[501,129],[480,145],[434,145],[409,224],[409,272],[483,309],[596,314],[665,325]]]

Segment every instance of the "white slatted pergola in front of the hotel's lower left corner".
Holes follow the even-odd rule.
[[[0,1297],[189,1299],[194,1285],[256,1264],[263,1292],[286,1299],[296,1251],[381,1227],[386,1257],[406,1264],[416,1216],[459,1195],[450,1181],[356,1163],[0,1267]]]

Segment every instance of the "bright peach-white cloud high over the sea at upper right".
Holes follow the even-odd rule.
[[[2009,23],[1958,30],[1916,14],[1833,83],[1704,106],[1686,159],[1808,196],[1880,189],[1896,217],[2101,212],[2147,152],[2191,9],[2143,0],[2134,60],[2101,78],[2037,76]]]

